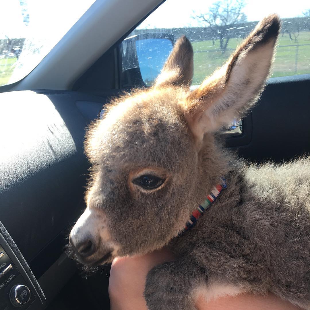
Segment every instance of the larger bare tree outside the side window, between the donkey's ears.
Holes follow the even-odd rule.
[[[200,20],[210,27],[213,39],[219,38],[220,49],[226,51],[229,41],[228,27],[245,22],[247,17],[242,12],[245,7],[244,0],[224,0],[212,4],[207,13],[197,14],[193,12],[192,18]]]

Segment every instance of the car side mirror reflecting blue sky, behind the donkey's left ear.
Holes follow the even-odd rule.
[[[175,43],[170,33],[143,33],[120,44],[122,86],[151,86]]]

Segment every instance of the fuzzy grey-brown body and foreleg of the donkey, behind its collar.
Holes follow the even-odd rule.
[[[207,290],[208,282],[271,291],[310,309],[309,158],[230,165],[228,187],[194,228],[171,241],[179,259],[149,272],[150,309],[192,309],[195,287],[206,283]]]

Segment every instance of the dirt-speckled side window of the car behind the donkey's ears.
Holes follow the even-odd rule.
[[[271,77],[310,73],[310,5],[307,2],[296,0],[293,7],[289,2],[278,0],[263,0],[260,4],[244,0],[203,3],[167,0],[121,43],[123,86],[137,86],[141,82],[152,85],[164,64],[163,59],[172,49],[172,45],[161,39],[163,34],[170,35],[171,42],[181,35],[191,41],[193,85],[199,85],[228,59],[258,20],[274,12],[280,14],[282,28]],[[142,35],[153,36],[153,42],[148,40],[143,44],[136,40],[136,46],[131,44],[128,49],[128,39]],[[143,55],[142,63],[139,54]]]

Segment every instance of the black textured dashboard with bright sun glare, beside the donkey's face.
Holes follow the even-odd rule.
[[[77,92],[18,91],[0,94],[0,103],[0,220],[6,228],[5,233],[0,232],[14,240],[13,253],[14,248],[22,253],[32,279],[42,277],[41,286],[47,288],[47,296],[53,296],[57,278],[50,283],[44,274],[64,253],[70,227],[85,209],[83,193],[89,167],[83,153],[85,127],[97,117],[105,99]],[[4,248],[4,241],[0,240],[0,245]],[[5,282],[5,289],[29,277],[12,263],[9,249],[0,248],[0,256],[4,253],[0,272],[12,266],[2,278],[14,274],[14,279]],[[68,263],[64,260],[64,264]],[[67,267],[59,281],[71,275]],[[55,272],[59,271],[56,268]],[[1,283],[0,273],[0,293]],[[34,289],[30,295],[35,296]],[[0,300],[4,300],[1,295]],[[8,300],[0,302],[0,309],[12,306]],[[22,309],[30,303],[32,299]]]

